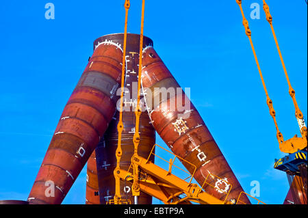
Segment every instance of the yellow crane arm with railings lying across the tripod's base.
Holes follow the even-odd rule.
[[[192,183],[192,178],[194,178],[194,174],[196,172],[196,165],[185,161],[185,159],[182,159],[180,156],[177,156],[176,154],[173,154],[172,152],[162,148],[161,146],[158,146],[159,148],[162,148],[163,150],[174,156],[174,159],[166,161],[162,156],[158,156],[153,152],[156,146],[158,145],[153,146],[148,159],[144,159],[142,156],[135,156],[131,160],[131,166],[127,171],[124,169],[120,169],[119,177],[122,180],[127,180],[127,182],[133,182],[134,176],[131,169],[133,168],[133,165],[138,165],[140,169],[140,190],[144,193],[152,195],[153,197],[156,197],[157,199],[164,202],[164,204],[192,204],[192,202],[196,202],[198,204],[245,204],[245,202],[242,202],[240,200],[241,195],[248,195],[244,192],[240,193],[240,195],[238,196],[238,200],[234,198],[231,200],[227,200],[229,193],[231,192],[232,185],[226,181],[225,185],[229,187],[229,189],[223,190],[223,188],[219,187],[216,182],[213,182],[217,180],[222,180],[222,178],[219,178],[214,174],[208,174],[201,187]],[[152,163],[150,161],[151,155],[154,155],[162,161],[169,163],[168,169],[164,169],[155,165],[155,163]],[[190,165],[190,167],[194,169],[194,172],[190,174],[189,172],[186,172],[185,169],[177,167],[175,165],[175,159],[179,159],[179,161],[181,161],[182,163],[185,162],[185,164]],[[180,169],[183,172],[187,173],[189,176],[185,179],[180,178],[179,176],[176,176],[172,173],[172,169]],[[181,177],[183,177],[183,175]],[[219,190],[223,196],[218,197],[209,194],[207,193],[207,191],[205,191],[205,187],[207,187],[207,190]],[[255,198],[255,200],[257,199]],[[261,201],[258,200],[258,202],[260,203]],[[264,204],[264,202],[261,203]]]

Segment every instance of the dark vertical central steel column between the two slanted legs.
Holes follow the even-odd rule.
[[[99,42],[113,42],[123,44],[123,34],[112,34],[99,38]],[[144,37],[144,47],[153,46],[151,39]],[[123,126],[121,147],[123,155],[120,159],[120,168],[129,169],[131,156],[133,155],[133,135],[135,134],[136,115],[134,113],[137,102],[138,90],[138,62],[139,62],[140,36],[129,33],[127,35],[125,96],[123,111]],[[118,92],[120,95],[120,92]],[[116,167],[116,148],[118,147],[119,111],[116,111],[110,126],[108,127],[99,148],[97,148],[97,170],[99,176],[99,193],[101,204],[106,204],[115,194],[114,169]],[[147,158],[155,144],[155,130],[150,123],[149,115],[144,111],[140,116],[140,144],[138,155]],[[134,203],[129,182],[120,181],[120,194],[123,199]],[[151,204],[152,197],[141,192],[138,204]]]

